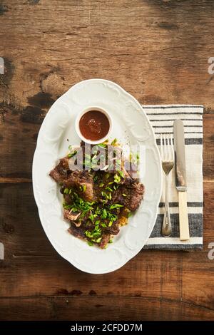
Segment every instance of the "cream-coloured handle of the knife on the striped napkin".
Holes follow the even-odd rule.
[[[178,192],[180,240],[190,239],[186,192]]]

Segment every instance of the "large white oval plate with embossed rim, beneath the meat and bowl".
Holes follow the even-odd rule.
[[[145,146],[144,200],[107,249],[89,247],[67,232],[69,224],[63,220],[62,196],[56,182],[49,177],[58,158],[68,152],[68,145],[79,145],[74,120],[88,105],[99,105],[111,113],[112,139],[117,138],[121,145]],[[161,180],[160,155],[146,113],[140,103],[116,83],[103,79],[82,81],[51,106],[41,125],[34,153],[34,197],[51,244],[75,267],[92,274],[103,274],[119,269],[138,254],[156,223]]]

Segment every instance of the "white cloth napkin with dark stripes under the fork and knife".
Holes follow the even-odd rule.
[[[183,120],[187,172],[189,241],[180,241],[178,192],[175,189],[175,170],[170,173],[171,237],[161,235],[164,197],[158,209],[156,225],[144,249],[202,249],[203,248],[203,106],[202,105],[144,105],[160,145],[160,134],[173,134],[173,121]],[[165,190],[165,178],[163,190]]]

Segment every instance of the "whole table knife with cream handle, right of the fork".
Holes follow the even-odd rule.
[[[178,190],[180,240],[190,239],[187,184],[185,173],[185,141],[182,120],[174,121],[174,148],[175,148],[175,186]]]

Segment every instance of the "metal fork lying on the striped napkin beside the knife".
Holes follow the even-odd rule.
[[[172,233],[170,210],[168,205],[168,175],[174,166],[174,148],[172,135],[161,135],[161,160],[165,172],[165,211],[163,216],[162,235],[169,237]]]

